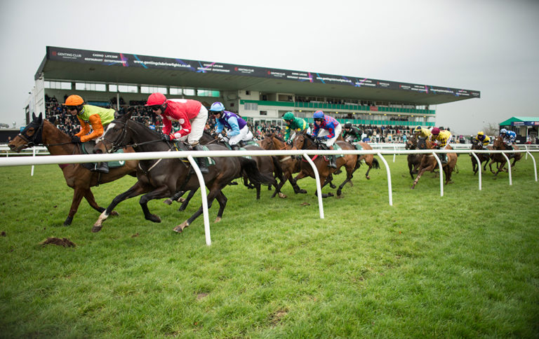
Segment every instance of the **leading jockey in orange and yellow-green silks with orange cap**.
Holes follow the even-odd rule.
[[[105,131],[105,127],[114,120],[114,109],[105,109],[99,106],[85,105],[84,99],[79,95],[69,95],[65,99],[65,110],[72,116],[76,116],[81,124],[81,130],[74,134],[71,141],[79,144],[81,142],[98,139]],[[90,126],[92,132],[90,132]],[[108,173],[109,164],[107,162],[99,162],[95,164],[93,171]]]

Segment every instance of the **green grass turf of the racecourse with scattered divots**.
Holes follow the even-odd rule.
[[[537,158],[537,155],[535,155]],[[533,162],[484,174],[478,190],[460,155],[454,184],[425,174],[411,190],[406,157],[361,167],[342,198],[324,200],[314,179],[307,195],[286,199],[244,186],[204,242],[202,216],[181,234],[185,212],[150,202],[162,223],[142,218],[138,198],[117,206],[100,233],[83,201],[72,199],[57,166],[3,167],[0,195],[2,338],[537,338],[539,190]],[[381,163],[381,162],[380,162]],[[335,177],[335,184],[344,179]],[[135,179],[94,188],[106,205]],[[330,191],[328,187],[324,192]],[[333,191],[333,190],[331,190]],[[76,247],[41,245],[67,237]]]

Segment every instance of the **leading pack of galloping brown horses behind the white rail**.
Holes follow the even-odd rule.
[[[210,151],[225,151],[229,150],[229,146],[223,144],[217,138],[212,137],[208,133],[204,133],[201,138],[201,144],[206,146]],[[354,146],[347,141],[343,141],[341,137],[335,142],[344,150],[354,149]],[[44,145],[51,155],[75,155],[84,154],[84,147],[92,145],[87,142],[84,144],[72,143],[71,137],[65,134],[54,125],[42,117],[33,115],[31,123],[25,127],[20,134],[15,137],[9,144],[11,151],[19,152],[23,148],[32,147],[34,145]],[[372,149],[370,145],[361,143],[364,149]],[[283,139],[274,134],[266,134],[265,138],[258,141],[258,146],[246,144],[243,146],[247,150],[251,149],[318,149],[319,145],[310,134],[298,133],[293,141],[293,144],[287,144]],[[131,113],[124,114],[112,121],[107,126],[105,134],[99,139],[97,144],[93,146],[93,153],[112,153],[115,151],[123,151],[124,153],[132,152],[153,152],[153,151],[190,151],[189,145],[181,141],[164,141],[160,134],[149,127],[131,120]],[[337,195],[341,195],[342,188],[350,182],[352,174],[361,166],[361,162],[368,165],[366,178],[370,179],[368,172],[372,167],[379,168],[378,160],[373,158],[373,155],[342,155],[336,160],[337,167],[329,167],[328,158],[325,156],[315,155],[312,161],[319,171],[321,186],[332,184],[333,174],[338,174],[341,167],[345,168],[346,179],[338,187]],[[87,164],[86,164],[87,165]],[[208,164],[208,173],[204,174],[204,182],[208,188],[208,208],[211,207],[213,200],[217,200],[219,210],[215,222],[220,221],[223,211],[227,204],[227,198],[222,192],[229,184],[233,184],[236,179],[243,179],[244,184],[251,188],[256,188],[257,199],[260,198],[260,187],[267,185],[274,187],[272,197],[279,195],[281,198],[286,198],[286,195],[281,193],[281,188],[286,181],[290,182],[294,193],[307,193],[297,184],[299,179],[304,177],[315,177],[314,171],[310,164],[301,157],[291,156],[253,156],[253,157],[214,157]],[[170,159],[152,159],[152,160],[130,160],[126,161],[121,167],[112,167],[108,173],[92,172],[89,166],[85,164],[63,164],[60,165],[67,186],[73,188],[72,205],[69,209],[67,219],[64,221],[64,226],[69,226],[74,214],[79,208],[80,202],[84,197],[93,209],[100,212],[98,221],[93,225],[92,231],[98,232],[101,230],[103,222],[110,215],[117,215],[114,212],[120,202],[133,198],[138,195],[139,203],[142,208],[145,219],[159,223],[161,219],[156,214],[152,214],[148,208],[148,202],[154,199],[166,198],[168,202],[171,199],[181,197],[185,192],[189,191],[189,195],[185,202],[180,207],[180,210],[185,209],[189,199],[194,192],[199,188],[197,175],[194,173],[189,161],[185,158],[170,158]],[[298,173],[294,178],[293,174]],[[124,193],[117,195],[108,207],[104,208],[95,202],[91,188],[99,184],[105,184],[110,181],[117,180],[125,175],[136,177],[137,181],[131,188]],[[350,182],[350,184],[352,184]],[[324,198],[331,196],[331,193],[321,194]],[[176,232],[189,226],[200,214],[202,214],[202,206],[194,212],[189,219],[185,220],[180,225],[176,226]]]

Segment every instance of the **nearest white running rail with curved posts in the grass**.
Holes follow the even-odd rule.
[[[535,181],[538,181],[537,179],[537,165],[535,162],[535,158],[531,154],[531,152],[539,152],[538,149],[533,150],[519,150],[519,151],[471,151],[471,150],[463,150],[463,149],[455,149],[451,151],[451,153],[471,153],[476,160],[479,162],[479,159],[477,158],[476,153],[502,153],[507,162],[509,162],[509,158],[507,158],[507,155],[505,153],[526,153],[527,155],[530,155],[533,160],[533,172],[535,174]],[[385,155],[391,155],[394,156],[397,154],[415,154],[415,153],[422,153],[422,154],[432,154],[434,155],[434,158],[436,158],[439,167],[441,168],[441,161],[438,158],[437,153],[447,153],[446,150],[402,150],[402,149],[377,149],[372,151],[357,151],[357,150],[340,150],[340,151],[321,151],[321,150],[295,150],[295,151],[287,151],[287,150],[277,150],[277,151],[266,151],[266,150],[259,150],[259,151],[173,151],[173,152],[143,152],[143,153],[113,153],[113,154],[86,154],[86,155],[48,155],[48,156],[19,156],[19,157],[11,157],[8,158],[7,156],[5,158],[0,158],[0,167],[4,166],[21,166],[21,165],[32,165],[32,173],[33,173],[33,165],[57,165],[57,164],[65,164],[65,163],[81,163],[81,162],[102,162],[102,161],[116,161],[116,160],[151,160],[151,159],[169,159],[169,158],[187,158],[189,162],[191,163],[192,167],[194,168],[194,172],[197,174],[197,177],[199,179],[200,184],[200,192],[202,196],[202,208],[203,208],[203,216],[204,216],[204,233],[206,235],[206,244],[208,246],[211,244],[211,235],[210,235],[210,224],[209,224],[209,216],[208,216],[208,200],[206,198],[206,189],[204,184],[204,177],[202,176],[199,167],[197,166],[197,162],[194,160],[194,158],[199,157],[230,157],[230,156],[254,156],[254,155],[302,155],[312,166],[312,169],[314,171],[316,181],[317,181],[317,191],[318,194],[318,205],[319,205],[319,213],[320,218],[324,219],[324,206],[322,205],[322,195],[321,195],[321,184],[319,180],[319,174],[317,171],[317,167],[314,165],[314,162],[312,162],[309,155],[335,155],[335,154],[357,154],[357,155],[364,155],[364,154],[374,154],[378,155],[382,162],[384,162],[385,169],[387,172],[387,191],[389,196],[389,202],[390,206],[393,205],[393,196],[392,196],[392,185],[391,185],[391,172],[390,167],[387,165],[387,161],[382,156],[382,154]],[[34,153],[35,155],[35,153]],[[393,158],[394,161],[394,158]],[[511,166],[509,167],[509,184],[512,185],[512,174],[511,174]],[[481,171],[479,171],[479,190],[481,190]],[[444,196],[444,175],[443,171],[440,171],[440,195]]]

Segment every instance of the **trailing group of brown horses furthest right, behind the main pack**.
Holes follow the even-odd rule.
[[[513,146],[514,149],[518,150],[518,146]],[[405,145],[406,149],[414,150],[414,149],[431,149],[433,148],[433,144],[428,139],[422,139],[415,136],[411,136],[406,141]],[[448,149],[453,149],[451,146],[448,146]],[[493,146],[488,146],[488,150],[506,150],[507,147],[503,143],[503,137],[496,137],[493,142]],[[477,140],[472,139],[472,150],[477,151],[483,151],[483,145]],[[494,176],[497,176],[499,172],[501,172],[504,169],[505,163],[507,160],[501,153],[477,153],[477,158],[479,158],[479,164],[477,163],[477,160],[475,159],[472,154],[470,154],[470,157],[472,158],[472,170],[474,174],[477,174],[477,171],[481,169],[481,164],[485,162],[483,170],[486,170],[486,165],[489,166],[491,172],[494,174]],[[451,184],[453,181],[451,181],[451,174],[455,171],[455,167],[457,165],[457,158],[458,155],[456,153],[447,153],[447,162],[442,164],[442,170],[444,171],[444,174],[446,175],[446,182],[445,184]],[[513,153],[512,155],[513,163],[510,164],[511,167],[514,167],[515,162],[520,160],[521,153]],[[418,184],[418,181],[422,174],[424,174],[427,171],[434,172],[439,166],[438,161],[434,158],[434,155],[432,154],[425,154],[425,153],[411,153],[408,154],[408,172],[410,173],[411,178],[413,179],[413,184],[411,188],[415,188],[415,185]],[[490,162],[489,162],[490,161]],[[492,169],[493,163],[496,163],[498,168],[497,171],[494,172]],[[414,174],[417,174],[417,177],[413,177]]]

